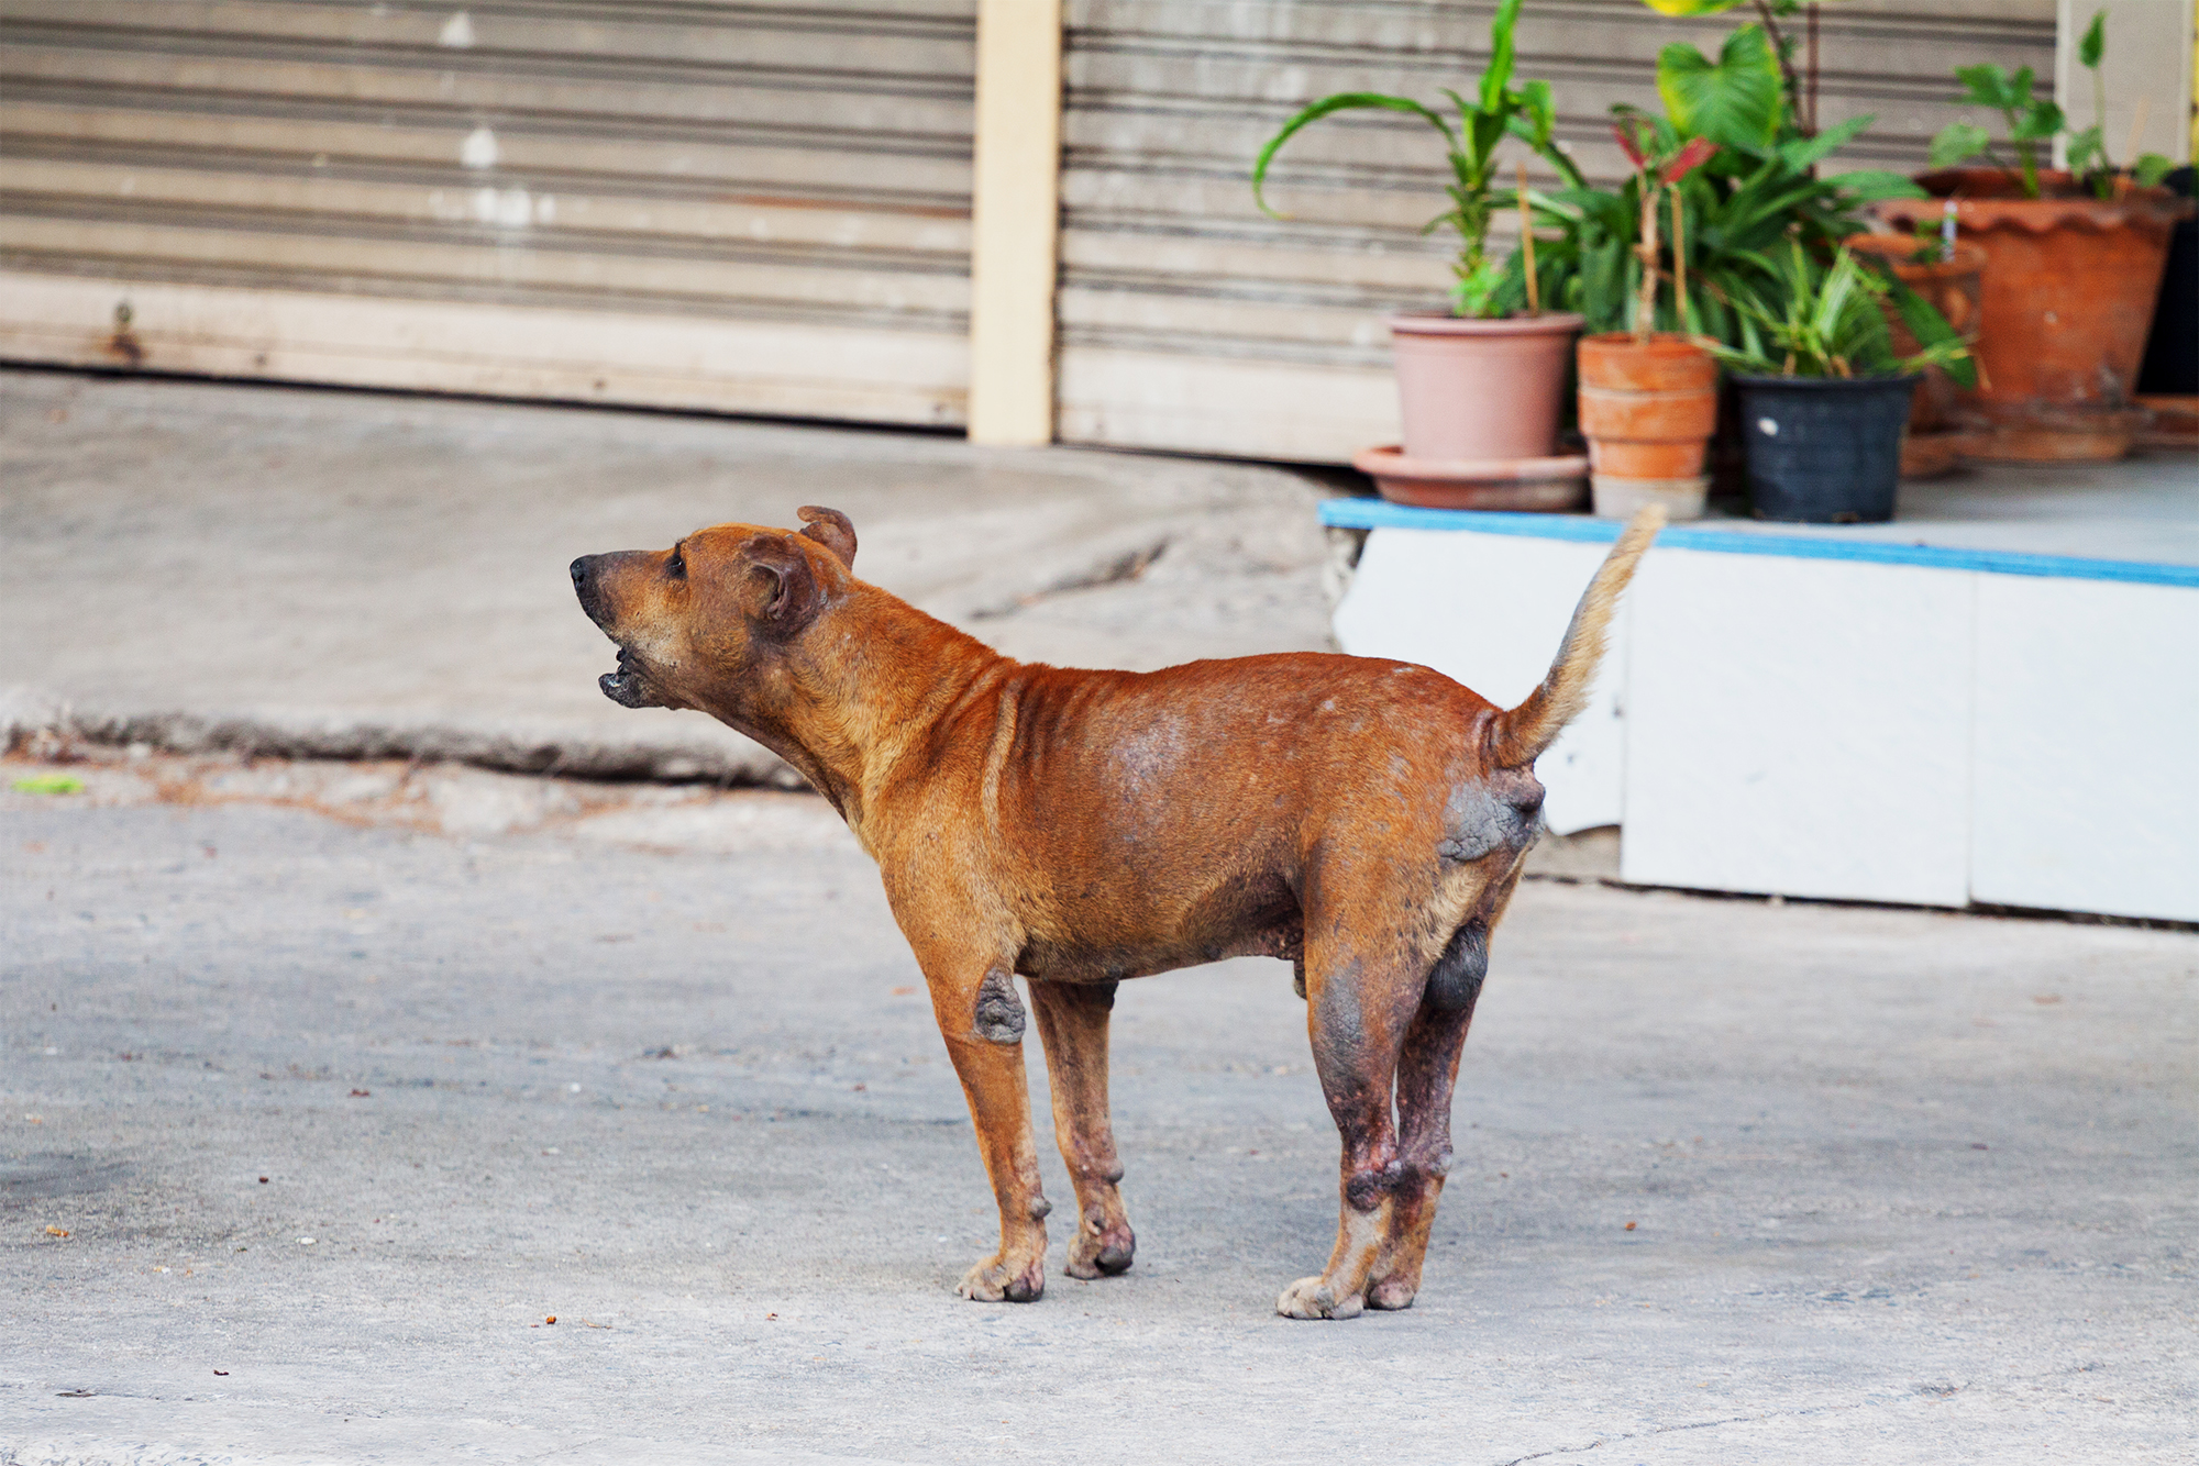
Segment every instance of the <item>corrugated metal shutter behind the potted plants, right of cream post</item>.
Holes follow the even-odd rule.
[[[1383,316],[1440,303],[1440,138],[1392,114],[1295,136],[1271,200],[1251,158],[1302,103],[1388,90],[1436,101],[1487,59],[1495,7],[1418,0],[1071,0],[1062,174],[1060,437],[1346,462],[1396,442]],[[1957,64],[2054,77],[2054,0],[1823,7],[1821,121],[1876,112],[1841,158],[1911,171]],[[1520,75],[1557,88],[1561,136],[1592,178],[1621,174],[1614,101],[1656,105],[1656,53],[1715,53],[1748,11],[1704,22],[1636,0],[1531,0]],[[1801,24],[1790,22],[1790,24]],[[1522,149],[1524,152],[1524,149]],[[1506,222],[1509,224],[1509,222]]]

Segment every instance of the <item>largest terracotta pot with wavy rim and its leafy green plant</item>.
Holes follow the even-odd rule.
[[[2078,44],[2096,112],[2082,132],[2069,130],[2056,103],[2032,95],[2027,66],[2014,75],[1959,66],[1959,101],[2001,114],[2005,149],[1983,127],[1955,123],[1933,138],[1933,171],[1918,178],[1931,198],[1880,204],[1896,226],[1929,224],[1953,209],[1962,235],[1986,251],[1983,380],[1962,404],[1979,426],[1964,446],[1968,455],[2113,459],[2144,422],[2131,393],[2168,235],[2190,200],[2159,187],[2168,158],[2144,154],[2118,165],[2109,156],[2098,121],[2107,103],[2104,51],[2102,11]],[[2063,134],[2069,167],[2043,167],[2043,147]],[[1979,156],[1983,165],[1968,165]]]

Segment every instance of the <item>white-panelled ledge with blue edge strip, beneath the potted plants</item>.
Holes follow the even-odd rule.
[[[2199,475],[2115,468],[2025,475],[2008,519],[1942,499],[1962,512],[1667,530],[1537,765],[1552,829],[1621,824],[1638,886],[2199,921]],[[1363,499],[1322,519],[1368,527],[1344,648],[1500,706],[1616,534]]]

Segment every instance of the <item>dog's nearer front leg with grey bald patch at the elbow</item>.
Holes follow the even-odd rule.
[[[919,954],[921,956],[921,954]],[[963,1275],[965,1299],[1029,1303],[1047,1288],[1047,1198],[1038,1189],[1031,1090],[1023,1075],[1023,1002],[1007,963],[924,963],[932,1013],[963,1081],[992,1193],[1001,1251]]]

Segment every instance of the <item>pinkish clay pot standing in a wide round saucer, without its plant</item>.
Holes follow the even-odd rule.
[[[1524,459],[1557,453],[1566,354],[1581,316],[1550,312],[1462,321],[1440,312],[1390,316],[1405,457]]]

